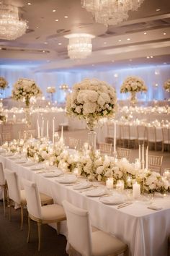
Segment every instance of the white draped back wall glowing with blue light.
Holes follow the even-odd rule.
[[[138,98],[145,101],[152,100],[164,100],[169,98],[164,88],[164,82],[170,79],[170,65],[157,66],[157,67],[140,67],[131,69],[117,69],[117,70],[71,70],[71,72],[34,72],[34,69],[24,66],[1,66],[0,76],[5,77],[9,82],[9,88],[6,89],[4,96],[9,97],[12,91],[12,85],[20,77],[27,77],[34,79],[42,89],[43,94],[47,97],[46,88],[48,86],[55,86],[58,90],[55,93],[55,100],[63,102],[66,95],[59,90],[59,86],[66,83],[69,87],[75,82],[79,82],[82,79],[98,78],[109,82],[110,85],[114,85],[117,90],[117,97],[120,100],[128,98],[125,93],[120,94],[120,85],[126,77],[135,75],[141,77],[148,86],[148,93],[138,93]],[[156,84],[158,86],[156,86]]]

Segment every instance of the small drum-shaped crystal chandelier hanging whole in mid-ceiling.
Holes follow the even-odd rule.
[[[91,54],[91,38],[94,38],[94,35],[81,33],[65,35],[65,37],[69,39],[68,56],[70,59],[86,59]]]

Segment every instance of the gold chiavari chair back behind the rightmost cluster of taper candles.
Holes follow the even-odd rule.
[[[151,171],[157,171],[161,174],[163,156],[162,155],[149,155],[148,154],[148,168]]]

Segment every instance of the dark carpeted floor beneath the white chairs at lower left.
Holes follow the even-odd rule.
[[[8,209],[4,217],[0,201],[0,255],[1,256],[66,256],[66,237],[57,235],[55,229],[42,225],[42,244],[37,251],[37,224],[31,222],[30,243],[27,243],[27,210],[24,209],[24,226],[20,230],[20,209],[12,208],[12,221]]]

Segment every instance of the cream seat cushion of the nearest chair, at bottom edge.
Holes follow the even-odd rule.
[[[92,255],[119,255],[125,251],[127,245],[121,242],[114,236],[104,233],[103,231],[96,231],[91,233],[92,236]]]

